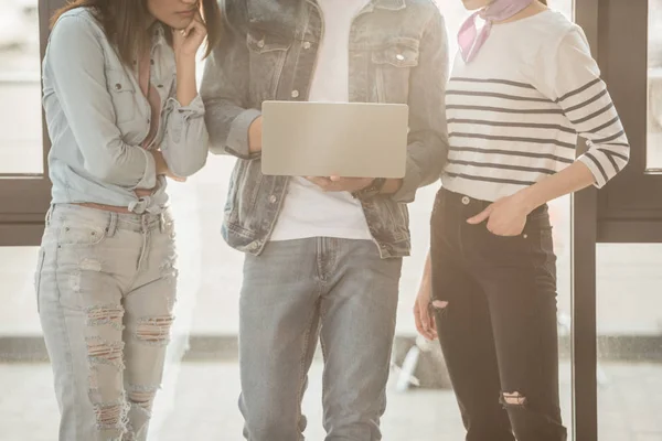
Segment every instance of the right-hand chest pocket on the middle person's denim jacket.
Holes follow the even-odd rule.
[[[377,101],[406,104],[412,69],[418,66],[419,40],[393,39],[373,49],[370,56]]]

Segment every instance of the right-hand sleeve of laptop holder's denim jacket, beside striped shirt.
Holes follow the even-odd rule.
[[[437,8],[420,39],[418,65],[409,80],[409,146],[403,185],[392,198],[414,202],[416,191],[437,181],[448,154],[446,83],[449,60],[444,19]]]

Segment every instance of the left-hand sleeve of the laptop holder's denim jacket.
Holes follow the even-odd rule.
[[[222,1],[225,30],[223,41],[207,58],[202,79],[201,95],[206,108],[211,151],[250,160],[259,153],[248,149],[248,128],[260,116],[258,109],[247,109],[248,47],[241,32],[242,15],[246,6],[242,2]]]

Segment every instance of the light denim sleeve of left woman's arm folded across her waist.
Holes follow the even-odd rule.
[[[84,18],[63,17],[50,36],[44,66],[83,155],[85,170],[128,189],[157,185],[154,159],[124,142],[106,83],[99,31]]]

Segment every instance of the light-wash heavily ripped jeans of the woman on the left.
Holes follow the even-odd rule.
[[[140,441],[175,301],[172,219],[55,205],[35,275],[61,441]]]

